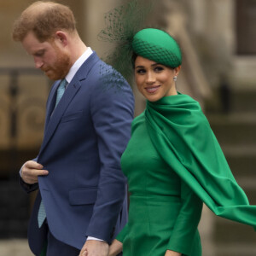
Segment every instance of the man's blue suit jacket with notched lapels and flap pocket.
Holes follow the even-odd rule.
[[[38,229],[41,196],[51,233],[79,249],[87,236],[112,241],[127,220],[120,156],[133,119],[129,84],[96,53],[79,68],[55,108],[58,84],[49,93],[44,141],[36,159],[49,175],[32,186],[21,181],[27,192],[39,186],[28,230],[37,255],[46,233],[44,226]]]

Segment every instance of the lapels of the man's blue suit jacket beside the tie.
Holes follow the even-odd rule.
[[[99,61],[99,58],[94,52],[90,55],[87,61],[84,61],[84,64],[79,68],[79,71],[75,74],[70,84],[68,84],[67,90],[55,109],[55,95],[59,83],[54,84],[54,88],[49,96],[49,109],[47,110],[47,117],[45,120],[44,140],[39,155],[44,151],[44,148],[49,143],[50,138],[53,136],[60,123],[62,115],[65,113],[70,102],[72,102],[73,97],[78,93],[81,87],[81,81],[87,78],[90,68],[94,66],[96,61]]]

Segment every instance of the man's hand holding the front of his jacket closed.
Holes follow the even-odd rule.
[[[35,161],[27,161],[21,169],[21,178],[25,183],[33,184],[38,183],[38,176],[48,175],[48,171],[43,170],[44,166]]]

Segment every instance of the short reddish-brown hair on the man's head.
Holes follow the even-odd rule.
[[[60,3],[37,1],[15,20],[13,39],[23,41],[28,32],[33,32],[40,42],[44,42],[58,30],[76,31],[72,10]]]

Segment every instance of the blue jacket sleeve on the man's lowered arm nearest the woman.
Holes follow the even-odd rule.
[[[124,79],[98,84],[91,96],[90,111],[97,135],[101,172],[86,236],[109,243],[126,194],[120,157],[131,136],[133,106],[131,87]]]

